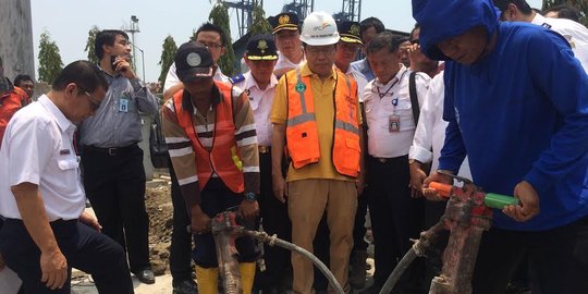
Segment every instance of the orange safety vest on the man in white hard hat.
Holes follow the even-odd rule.
[[[333,164],[341,174],[356,177],[359,174],[359,126],[357,119],[357,83],[341,71],[335,71]],[[319,161],[320,148],[315,99],[310,78],[301,71],[286,73],[287,124],[286,142],[292,164],[299,169]]]

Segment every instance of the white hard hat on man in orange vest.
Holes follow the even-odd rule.
[[[308,14],[303,23],[301,40],[310,46],[336,44],[339,32],[333,16],[322,11]]]

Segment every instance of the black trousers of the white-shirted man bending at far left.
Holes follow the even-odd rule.
[[[53,291],[40,281],[40,250],[23,221],[7,219],[0,230],[0,250],[7,265],[23,280],[25,293],[70,294],[72,267],[90,273],[100,293],[134,293],[121,245],[77,220],[50,224],[69,267],[68,281],[62,289]]]

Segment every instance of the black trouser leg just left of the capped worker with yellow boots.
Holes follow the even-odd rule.
[[[172,283],[177,284],[182,281],[192,280],[192,234],[186,230],[189,225],[189,215],[171,159],[168,167],[172,183],[171,198],[173,205],[170,271],[173,279]]]

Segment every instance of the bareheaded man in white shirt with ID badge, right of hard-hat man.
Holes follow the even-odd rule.
[[[364,93],[369,154],[366,177],[376,272],[373,285],[365,293],[379,293],[397,260],[411,248],[409,238],[418,237],[421,229],[424,201],[412,198],[408,188],[408,149],[416,124],[408,89],[411,72],[400,63],[402,41],[384,32],[376,35],[367,47],[367,59],[376,75]],[[415,76],[419,105],[429,81],[424,73]],[[420,262],[414,262],[399,281],[396,291],[418,293],[421,270]]]

